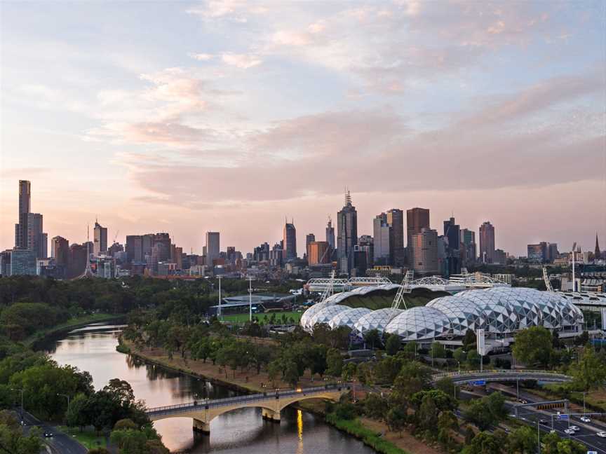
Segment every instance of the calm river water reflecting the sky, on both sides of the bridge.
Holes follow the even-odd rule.
[[[206,397],[235,393],[181,373],[168,371],[116,352],[119,325],[92,324],[72,331],[48,345],[48,354],[59,364],[70,364],[93,376],[95,390],[111,378],[133,387],[135,397],[148,407],[182,404]],[[243,408],[220,415],[210,423],[210,436],[192,430],[190,418],[154,422],[171,452],[225,454],[370,454],[374,451],[351,436],[325,424],[321,417],[285,408],[281,422],[264,421],[260,408]]]

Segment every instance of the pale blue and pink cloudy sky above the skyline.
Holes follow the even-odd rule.
[[[606,248],[606,1],[2,1],[0,247],[206,231],[250,252],[426,207]]]

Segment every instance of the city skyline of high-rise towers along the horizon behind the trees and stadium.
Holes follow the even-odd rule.
[[[220,246],[220,233],[207,232],[202,254],[189,254],[175,244],[170,234],[145,233],[126,235],[121,245],[108,241],[108,229],[95,221],[92,241],[69,243],[67,238],[50,239],[43,232],[42,214],[31,212],[32,186],[19,181],[18,223],[15,246],[0,252],[0,273],[7,275],[42,275],[57,279],[81,276],[122,277],[146,275],[167,278],[197,278],[225,275],[253,275],[267,279],[324,277],[335,270],[341,276],[403,275],[412,270],[415,276],[458,275],[462,268],[505,265],[508,254],[497,249],[495,228],[485,221],[476,231],[462,228],[454,216],[443,221],[442,229],[431,228],[429,209],[392,208],[372,219],[372,235],[358,235],[358,212],[349,191],[337,212],[336,226],[329,216],[324,238],[315,233],[305,236],[302,257],[297,250],[294,219],[285,220],[281,240],[270,246],[264,242],[253,252],[243,254],[235,247]],[[596,237],[595,253],[581,253],[577,262],[588,263],[602,258]],[[567,264],[568,254],[560,254],[554,243],[528,245],[527,261]]]

